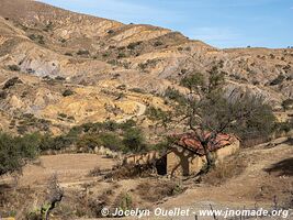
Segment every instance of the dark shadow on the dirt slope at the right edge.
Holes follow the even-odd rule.
[[[278,162],[264,170],[268,173],[277,173],[279,176],[293,176],[293,157]]]

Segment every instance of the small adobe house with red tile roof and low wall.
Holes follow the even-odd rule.
[[[211,134],[207,134],[211,135]],[[206,164],[204,147],[192,133],[176,135],[177,141],[167,152],[151,151],[144,154],[134,154],[124,158],[124,164],[143,165],[154,164],[159,175],[189,176],[198,174]],[[215,162],[235,154],[240,146],[239,140],[230,134],[217,134],[207,144]]]

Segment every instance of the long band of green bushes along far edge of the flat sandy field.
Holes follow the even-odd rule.
[[[60,117],[67,118],[66,114]],[[140,152],[146,150],[143,132],[137,129],[135,121],[128,120],[124,123],[114,121],[86,123],[74,127],[67,134],[50,136],[40,135],[40,150],[59,151],[70,145],[91,148],[104,146],[112,151]]]

